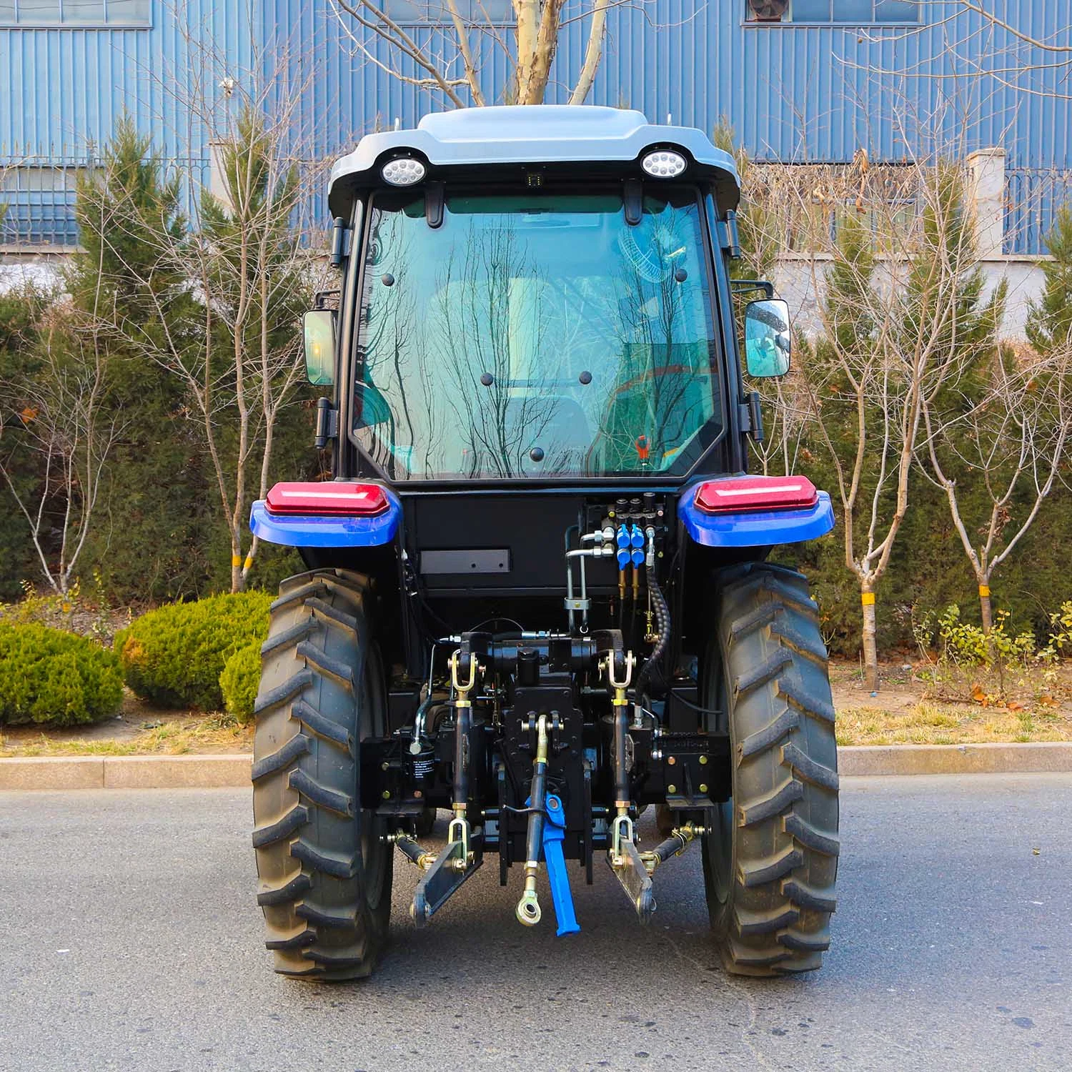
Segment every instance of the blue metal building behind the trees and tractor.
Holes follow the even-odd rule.
[[[485,95],[501,102],[509,0],[468,3]],[[592,3],[567,0],[549,101],[565,101],[577,78],[578,16]],[[384,4],[415,43],[450,54],[441,0]],[[998,8],[1030,38],[1072,42],[1072,0]],[[1003,148],[1008,253],[1042,252],[1055,205],[1072,194],[1069,64],[958,0],[645,0],[612,8],[605,49],[589,103],[709,132],[725,116],[759,159]],[[226,108],[251,93],[268,109],[297,98],[296,142],[334,155],[366,131],[449,106],[415,84],[420,74],[352,20],[343,27],[331,0],[0,0],[0,241],[76,241],[73,175],[124,113],[207,182],[210,135],[192,98]]]

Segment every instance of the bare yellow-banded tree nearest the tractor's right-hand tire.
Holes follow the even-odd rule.
[[[1002,298],[976,308],[981,284],[959,169],[920,165],[915,175],[913,226],[905,227],[899,206],[877,200],[867,205],[869,226],[855,209],[842,218],[830,272],[815,284],[825,292],[822,334],[805,361],[818,436],[836,474],[845,564],[860,584],[873,691],[876,591],[908,510],[925,414],[977,356],[967,343],[981,318],[996,323]]]

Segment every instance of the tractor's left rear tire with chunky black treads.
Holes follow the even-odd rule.
[[[387,940],[391,847],[358,786],[360,741],[386,728],[367,592],[343,570],[289,578],[260,649],[253,845],[266,946],[283,974],[368,976]]]

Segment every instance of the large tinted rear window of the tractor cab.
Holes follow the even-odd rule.
[[[396,479],[686,472],[721,429],[695,190],[378,193],[355,432]]]

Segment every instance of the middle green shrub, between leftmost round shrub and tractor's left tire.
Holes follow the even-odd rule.
[[[267,637],[270,604],[266,592],[242,592],[144,614],[116,634],[126,684],[162,706],[219,711],[220,674],[240,647]]]

